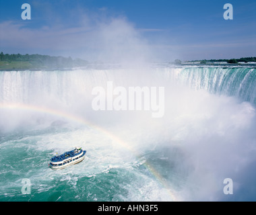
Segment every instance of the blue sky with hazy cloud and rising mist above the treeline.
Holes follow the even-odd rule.
[[[22,4],[31,19],[22,19]],[[224,19],[232,4],[233,19]],[[0,0],[0,51],[90,61],[256,56],[254,0]]]

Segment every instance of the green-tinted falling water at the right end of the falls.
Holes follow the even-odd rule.
[[[256,104],[256,69],[247,67],[189,67],[159,69],[158,73],[193,89],[241,98]]]

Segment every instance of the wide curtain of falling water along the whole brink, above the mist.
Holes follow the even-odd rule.
[[[145,75],[145,73],[143,73]],[[179,83],[192,89],[235,96],[256,104],[256,69],[247,67],[188,67],[158,68],[138,76],[130,71],[77,70],[77,71],[8,71],[0,73],[0,103],[34,103],[58,100],[71,105],[77,99],[88,99],[92,87],[114,81],[116,85],[154,85]],[[141,82],[142,79],[147,81]],[[160,82],[161,84],[161,82]]]

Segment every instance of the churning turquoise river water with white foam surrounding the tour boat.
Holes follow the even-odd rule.
[[[158,193],[161,189],[166,195],[160,182],[144,165],[144,155],[136,158],[122,147],[114,148],[112,140],[100,133],[88,128],[54,133],[47,129],[39,133],[34,130],[20,136],[5,136],[9,140],[2,139],[1,201],[161,200]],[[104,144],[95,145],[94,141],[98,140]],[[86,159],[66,169],[50,169],[51,157],[70,148],[73,142],[88,150]],[[22,179],[30,179],[30,194],[22,194]]]

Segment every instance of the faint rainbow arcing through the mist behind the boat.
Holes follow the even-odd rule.
[[[44,113],[44,114],[50,114],[52,116],[57,116],[59,118],[65,118],[66,120],[76,122],[78,124],[82,124],[84,126],[87,126],[88,128],[92,128],[93,130],[97,130],[98,132],[108,136],[111,140],[114,140],[118,144],[121,144],[124,148],[129,150],[137,159],[139,159],[138,153],[131,147],[131,144],[121,140],[121,138],[115,136],[113,133],[109,132],[105,128],[102,128],[96,124],[93,124],[92,122],[89,122],[88,120],[85,120],[84,118],[75,116],[73,114],[70,114],[68,112],[64,112],[61,110],[54,110],[49,107],[40,107],[36,105],[28,105],[24,103],[0,103],[0,110],[22,110],[22,111],[31,111],[31,112],[38,112],[38,113]],[[158,173],[154,167],[150,165],[148,162],[144,162],[143,165],[152,173],[152,175],[157,179],[157,181],[160,182],[160,184],[168,191],[168,195],[172,199],[172,201],[180,201],[179,198],[177,198],[176,195],[174,195],[174,191],[170,188],[167,181],[163,179],[163,177]]]

